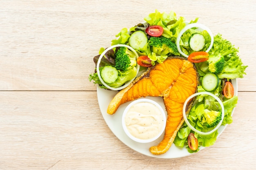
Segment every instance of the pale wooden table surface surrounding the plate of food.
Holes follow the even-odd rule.
[[[255,0],[1,0],[0,170],[251,170],[256,167]],[[233,123],[176,159],[140,154],[101,115],[92,58],[149,13],[199,17],[239,47]]]

